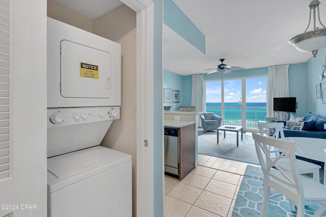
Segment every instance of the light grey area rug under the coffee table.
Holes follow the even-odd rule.
[[[198,153],[259,165],[255,141],[250,132],[243,133],[242,141],[239,133],[239,146],[236,146],[236,132],[226,132],[225,139],[223,131],[219,134],[219,144],[216,131],[201,134],[198,137]]]

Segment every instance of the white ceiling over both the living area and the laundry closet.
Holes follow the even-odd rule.
[[[119,0],[55,1],[91,19],[122,4]],[[206,55],[164,25],[166,70],[189,75],[207,73],[204,69],[216,68],[222,58],[229,66],[253,69],[303,63],[311,57],[310,53],[300,52],[288,43],[308,25],[308,0],[173,2],[206,36]],[[325,24],[326,1],[321,1],[320,13]]]

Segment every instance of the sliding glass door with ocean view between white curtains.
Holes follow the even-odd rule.
[[[206,112],[221,116],[223,124],[257,131],[266,117],[266,77],[207,81]]]

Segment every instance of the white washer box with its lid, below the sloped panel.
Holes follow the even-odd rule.
[[[132,216],[131,156],[101,146],[47,159],[48,215]]]

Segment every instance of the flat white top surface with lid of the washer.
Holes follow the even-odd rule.
[[[130,160],[131,156],[95,146],[47,159],[47,170],[58,179],[78,176],[96,170],[98,173]],[[72,177],[71,177],[72,178]]]

